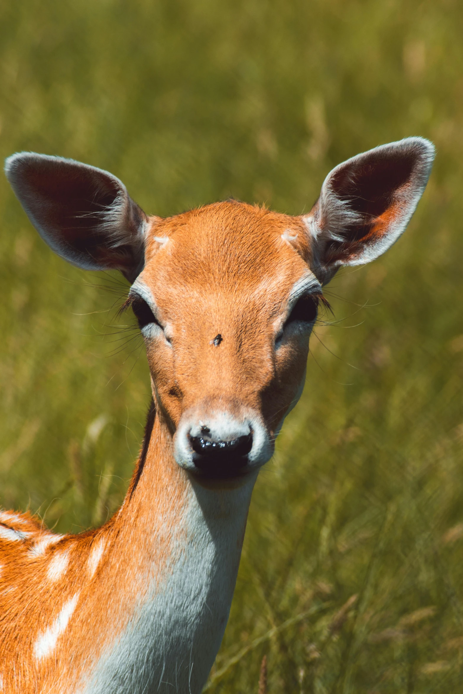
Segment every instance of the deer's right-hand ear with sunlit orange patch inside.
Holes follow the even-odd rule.
[[[405,231],[428,183],[435,149],[422,137],[375,147],[330,171],[303,217],[314,271],[328,282],[341,265],[361,265]]]

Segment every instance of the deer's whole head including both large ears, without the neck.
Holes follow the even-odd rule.
[[[303,217],[235,201],[146,217],[112,174],[46,155],[13,155],[6,174],[54,251],[132,283],[127,303],[176,461],[230,478],[273,453],[303,387],[322,285],[396,241],[433,152],[414,137],[357,155],[328,174]]]

